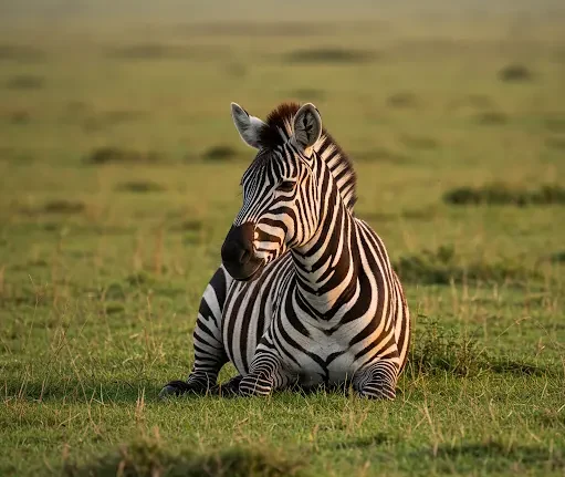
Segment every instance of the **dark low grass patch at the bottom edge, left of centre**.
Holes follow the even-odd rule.
[[[174,454],[157,439],[123,445],[100,460],[63,466],[66,477],[279,477],[299,476],[303,465],[275,452],[232,448],[210,454],[186,449]]]

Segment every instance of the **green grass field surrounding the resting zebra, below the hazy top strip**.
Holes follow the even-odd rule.
[[[565,475],[557,13],[3,29],[0,475]],[[158,402],[252,158],[230,101],[283,100],[405,283],[398,397]]]

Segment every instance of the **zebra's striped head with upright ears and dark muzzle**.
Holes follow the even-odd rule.
[[[221,250],[228,272],[247,281],[286,249],[306,245],[318,229],[323,162],[314,145],[323,129],[311,103],[279,112],[279,126],[236,103],[231,114],[243,142],[258,151],[241,179],[243,205]]]

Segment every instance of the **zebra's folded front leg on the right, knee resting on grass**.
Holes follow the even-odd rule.
[[[394,400],[398,363],[391,360],[380,360],[359,370],[353,380],[353,387],[359,396],[369,400]]]

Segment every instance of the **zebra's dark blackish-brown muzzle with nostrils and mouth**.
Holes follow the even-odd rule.
[[[236,280],[253,280],[264,265],[264,261],[257,258],[253,251],[254,230],[254,225],[250,222],[231,227],[223,241],[222,263]]]

